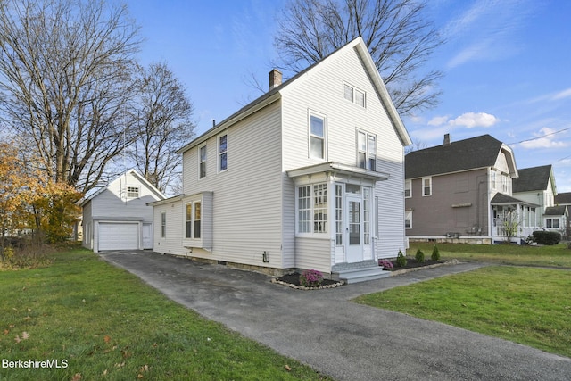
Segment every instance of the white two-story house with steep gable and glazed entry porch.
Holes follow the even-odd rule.
[[[154,251],[270,274],[378,274],[404,236],[410,145],[359,37],[179,150],[184,195],[153,203]],[[362,279],[362,277],[361,277]],[[352,280],[353,281],[353,280]]]

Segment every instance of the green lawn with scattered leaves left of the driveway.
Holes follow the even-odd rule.
[[[328,379],[203,319],[94,253],[58,253],[43,269],[0,272],[0,379]],[[65,360],[65,361],[64,361]]]

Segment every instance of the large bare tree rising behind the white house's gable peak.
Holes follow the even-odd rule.
[[[290,0],[274,45],[284,70],[298,72],[363,37],[401,115],[434,107],[438,70],[425,63],[442,44],[420,0]]]

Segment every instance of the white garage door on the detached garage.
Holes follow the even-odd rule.
[[[125,222],[99,223],[99,250],[137,250],[139,225]]]

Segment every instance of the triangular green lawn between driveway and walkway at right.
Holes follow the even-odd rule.
[[[571,357],[570,285],[568,269],[492,266],[355,301]]]

